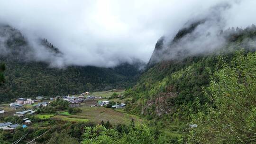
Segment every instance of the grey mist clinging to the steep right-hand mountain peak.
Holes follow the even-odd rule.
[[[228,21],[224,15],[232,7],[230,3],[216,5],[207,13],[199,15],[197,19],[188,20],[174,37],[162,36],[155,45],[148,65],[161,61],[182,60],[188,56],[210,54],[222,49],[230,42],[230,36],[239,35],[242,30],[242,27],[234,26],[235,23],[233,26],[236,28],[227,27]],[[254,24],[253,27],[255,27]],[[254,43],[252,39],[251,41]]]

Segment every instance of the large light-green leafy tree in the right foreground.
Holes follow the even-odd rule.
[[[197,128],[189,132],[189,143],[256,143],[256,53],[240,51],[231,64],[220,60],[205,94],[212,101],[193,115]]]

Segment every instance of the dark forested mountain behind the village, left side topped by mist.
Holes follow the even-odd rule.
[[[0,26],[0,63],[6,65],[5,83],[0,87],[0,102],[20,97],[63,96],[79,94],[87,90],[110,90],[126,88],[141,72],[145,63],[121,63],[114,68],[94,66],[67,66],[55,68],[50,61],[61,57],[62,52],[46,39],[38,44],[48,52],[49,60],[38,60],[36,49],[17,29]]]

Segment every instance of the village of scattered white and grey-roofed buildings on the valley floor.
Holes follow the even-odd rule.
[[[115,92],[111,92],[111,94]],[[10,121],[4,121],[0,123],[0,129],[4,131],[13,132],[17,127],[23,127],[26,128],[33,124],[33,120],[29,119],[29,116],[39,117],[40,114],[37,114],[37,110],[39,108],[47,107],[51,102],[53,102],[56,99],[62,99],[64,101],[68,102],[69,108],[82,108],[83,110],[90,110],[90,108],[94,108],[89,111],[88,114],[81,114],[82,117],[87,117],[87,115],[93,115],[93,113],[97,113],[95,108],[98,108],[99,111],[101,111],[103,108],[105,109],[113,109],[113,110],[105,110],[110,111],[110,116],[105,117],[112,117],[111,115],[120,113],[119,111],[116,111],[118,109],[123,109],[126,107],[125,102],[118,102],[117,99],[107,99],[104,94],[97,94],[95,96],[94,94],[91,94],[90,92],[86,91],[80,95],[73,95],[73,96],[57,96],[53,98],[46,98],[42,96],[36,97],[36,99],[32,98],[18,98],[15,102],[9,103],[8,106],[0,107],[0,116],[1,117],[7,117],[7,116],[13,116],[13,117],[22,117],[22,124],[18,123],[12,123]],[[101,96],[102,95],[102,96]],[[117,94],[116,94],[117,95]],[[121,93],[119,92],[118,98],[121,96]],[[7,111],[5,111],[7,109]],[[115,112],[116,111],[116,112]],[[52,116],[52,119],[55,120],[64,120],[65,118],[68,120],[82,120],[85,121],[87,119],[82,118],[73,118],[73,117],[64,117],[64,114],[66,112],[60,112],[60,115]],[[67,114],[70,115],[70,114]],[[118,114],[119,115],[119,114]],[[60,118],[59,118],[60,117]],[[42,118],[44,119],[45,116]],[[47,117],[50,118],[50,117]],[[92,118],[93,119],[93,118]],[[110,119],[111,120],[111,119]]]

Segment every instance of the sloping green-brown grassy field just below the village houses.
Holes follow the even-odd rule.
[[[69,116],[60,116],[56,115],[51,117],[55,120],[63,120],[63,121],[74,121],[74,122],[87,122],[90,121],[92,123],[100,123],[101,120],[104,122],[110,121],[112,125],[115,124],[128,124],[133,118],[136,123],[143,123],[145,121],[139,119],[136,116],[128,115],[118,110],[114,110],[112,108],[104,108],[104,107],[81,107],[82,112],[77,115],[69,115]]]

